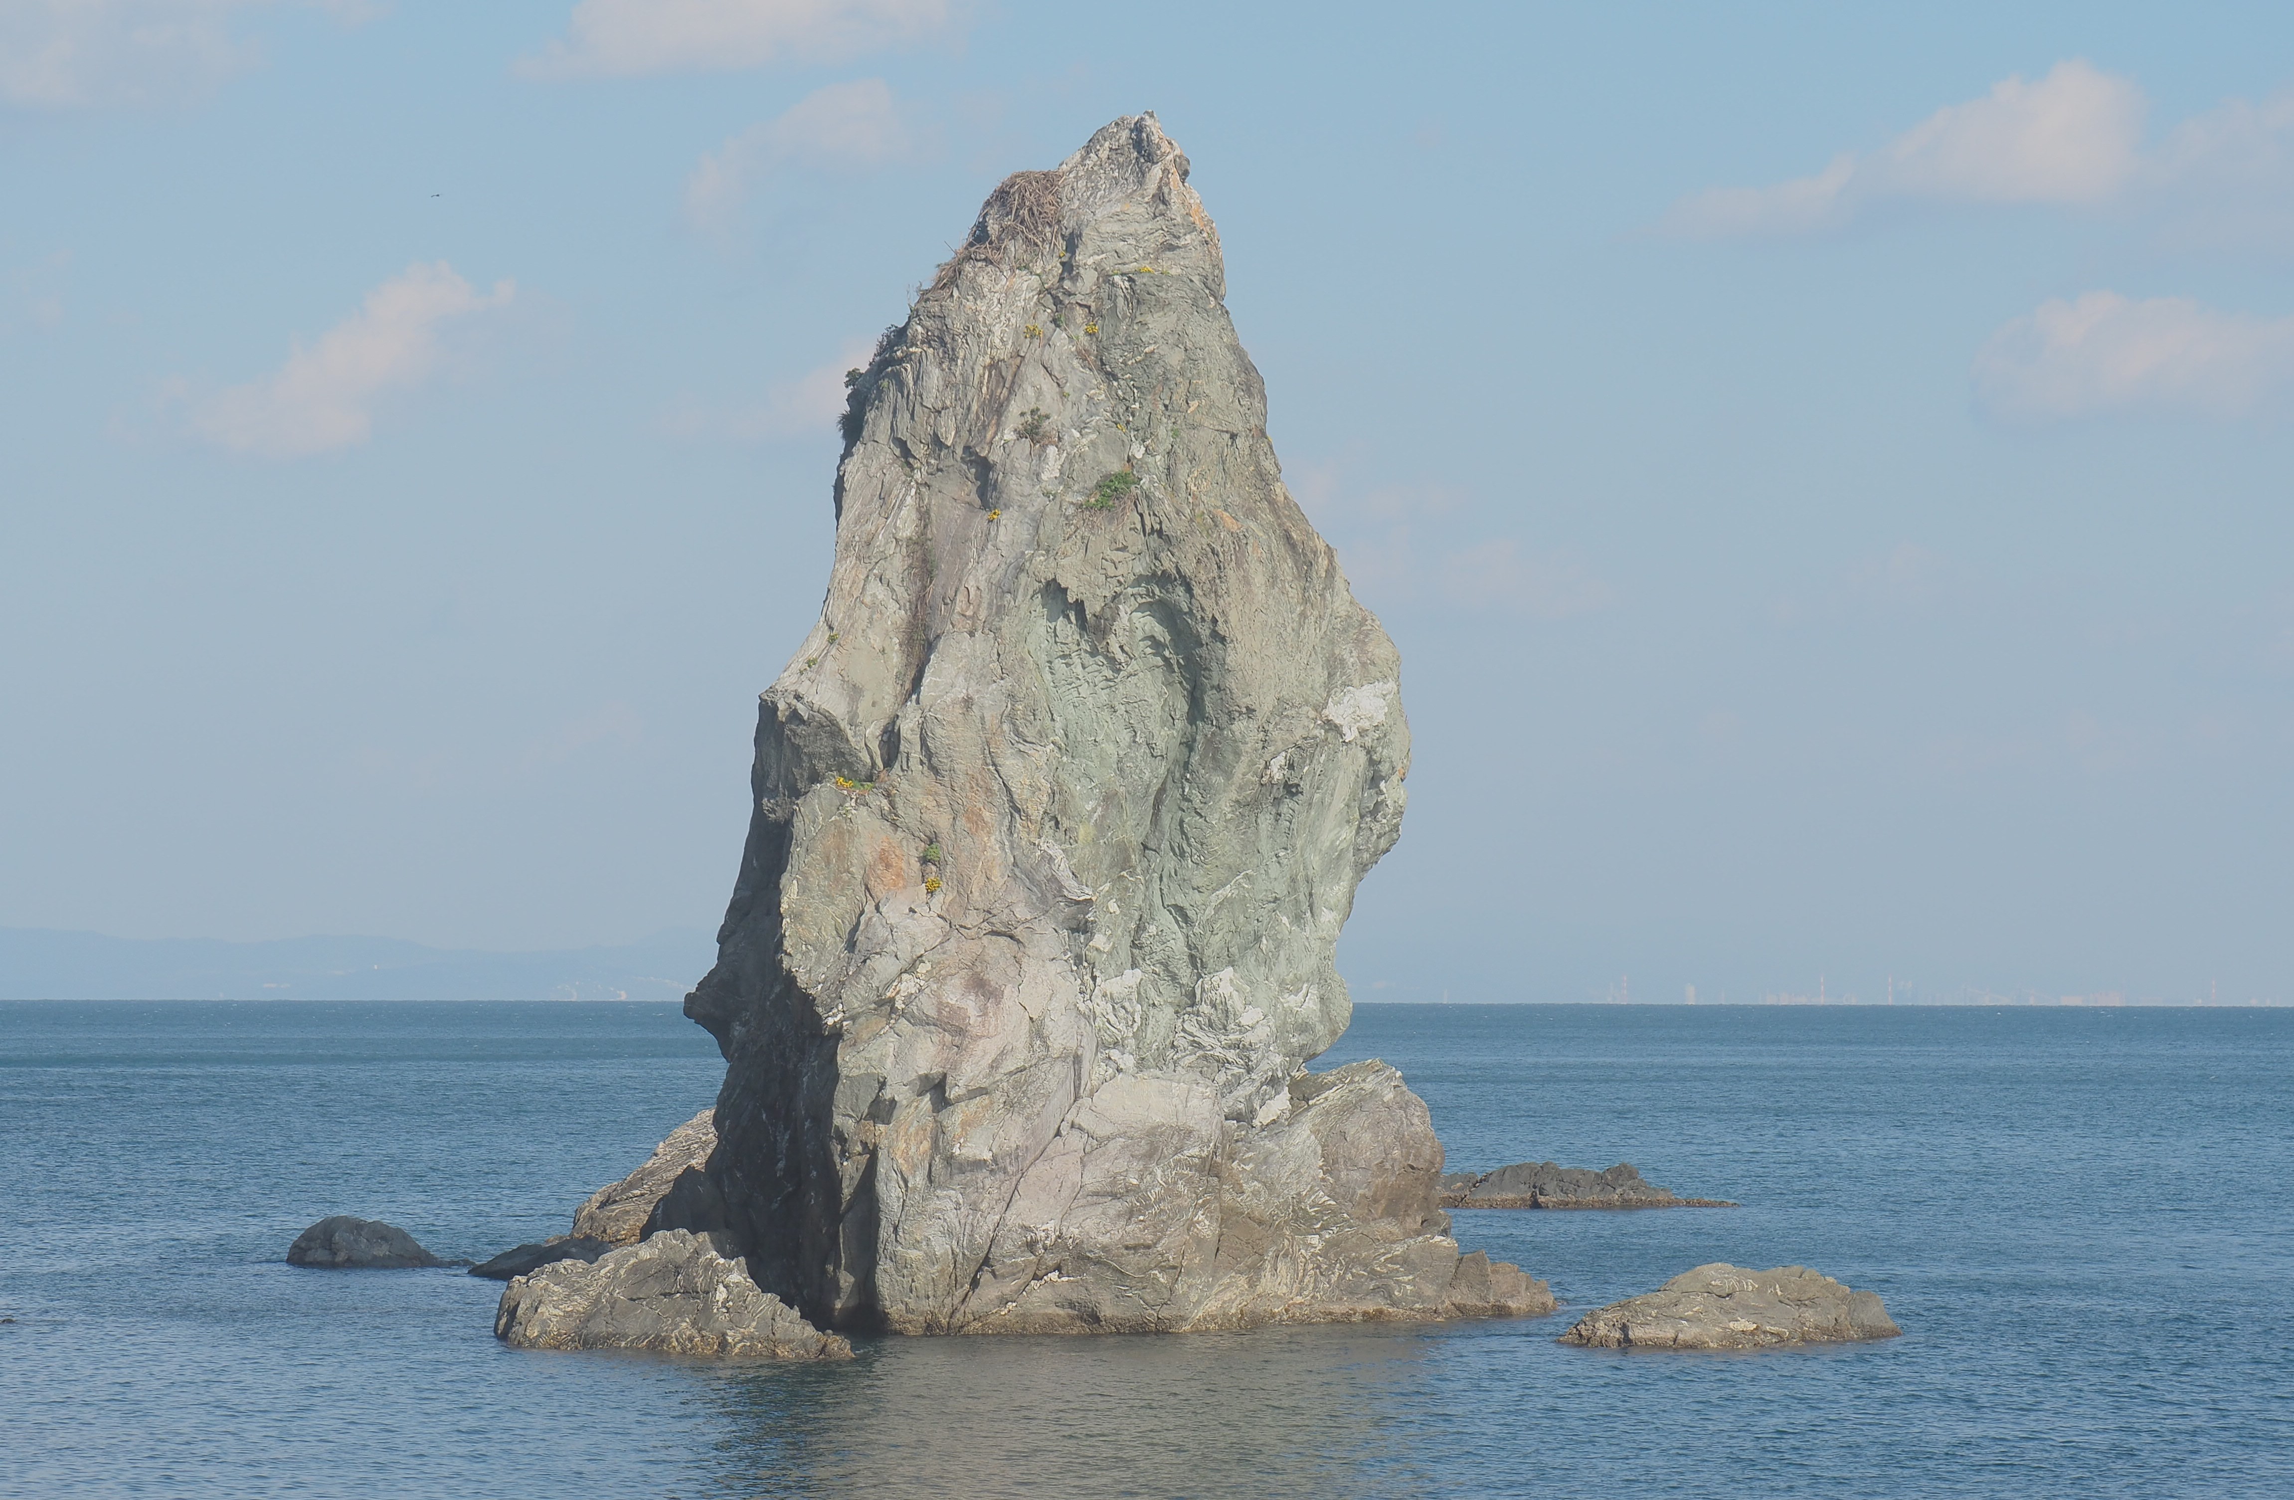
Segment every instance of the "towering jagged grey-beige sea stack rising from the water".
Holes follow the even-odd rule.
[[[851,376],[821,619],[686,1011],[759,1282],[902,1333],[1544,1312],[1331,966],[1399,663],[1285,491],[1152,115],[1021,172]],[[672,1222],[656,1216],[656,1222]]]

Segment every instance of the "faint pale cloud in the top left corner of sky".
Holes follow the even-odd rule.
[[[282,0],[0,0],[0,99],[34,110],[197,99],[262,50],[232,16]],[[356,23],[365,0],[298,0]]]

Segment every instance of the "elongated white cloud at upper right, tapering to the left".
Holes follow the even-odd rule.
[[[1805,234],[1888,200],[1966,204],[2101,204],[2140,165],[2143,89],[2088,62],[2046,78],[2005,78],[1982,99],[1936,110],[1865,156],[1769,188],[1714,188],[1665,216],[1675,234]]]

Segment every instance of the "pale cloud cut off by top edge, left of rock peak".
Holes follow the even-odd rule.
[[[518,71],[599,78],[828,62],[952,30],[957,9],[954,0],[580,0],[569,34]]]

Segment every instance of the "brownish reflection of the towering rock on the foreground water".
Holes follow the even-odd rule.
[[[1539,1323],[1551,1328],[1551,1321]],[[1409,1495],[1436,1454],[1395,1415],[1431,1339],[1271,1328],[876,1339],[851,1367],[716,1383],[725,1495]]]

